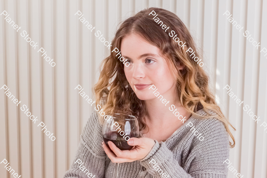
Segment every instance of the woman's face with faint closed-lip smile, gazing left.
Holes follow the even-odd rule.
[[[156,92],[163,97],[164,93],[175,94],[176,82],[171,77],[166,59],[160,56],[158,47],[151,45],[139,35],[130,34],[121,42],[121,54],[130,63],[128,67],[124,66],[124,72],[139,99],[154,99]],[[158,88],[154,94],[156,89],[153,90],[154,86],[150,88],[152,85]]]

